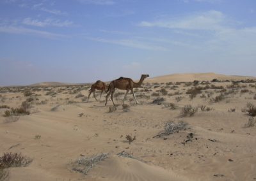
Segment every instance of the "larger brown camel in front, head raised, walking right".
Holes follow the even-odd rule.
[[[136,101],[136,103],[138,104],[138,101],[137,101],[137,99],[136,99],[136,97],[135,97],[135,94],[134,94],[134,92],[133,92],[133,88],[140,87],[141,84],[142,84],[142,82],[143,82],[143,80],[144,80],[145,78],[147,78],[148,76],[149,76],[149,75],[145,75],[145,74],[141,75],[141,78],[140,78],[140,81],[139,81],[139,82],[133,82],[133,80],[132,80],[131,78],[126,78],[126,77],[122,77],[122,76],[121,76],[120,78],[118,78],[118,79],[113,80],[112,82],[110,82],[110,83],[109,83],[109,87],[108,87],[108,94],[107,94],[107,96],[106,96],[106,103],[105,103],[105,106],[106,106],[107,103],[108,103],[108,97],[110,96],[110,94],[111,94],[111,100],[112,100],[112,102],[113,102],[113,105],[115,105],[115,103],[114,103],[114,101],[113,101],[113,94],[114,94],[114,92],[115,92],[115,88],[121,89],[121,90],[126,90],[126,94],[125,94],[125,96],[124,96],[124,101],[125,101],[125,98],[126,98],[128,92],[131,91],[132,94],[133,94],[133,97],[134,97],[134,99],[135,99],[135,101]],[[124,101],[123,101],[123,104],[124,104]]]

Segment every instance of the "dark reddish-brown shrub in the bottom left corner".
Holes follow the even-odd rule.
[[[4,153],[0,157],[0,169],[10,168],[10,167],[19,167],[19,166],[28,166],[32,162],[32,159],[29,157],[24,157],[21,154],[17,153]]]

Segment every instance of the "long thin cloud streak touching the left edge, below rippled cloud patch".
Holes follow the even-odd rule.
[[[67,38],[63,34],[50,33],[48,31],[38,31],[35,29],[29,29],[25,27],[15,27],[12,25],[3,25],[0,26],[0,33],[10,33],[10,34],[26,34],[40,36],[43,38]]]

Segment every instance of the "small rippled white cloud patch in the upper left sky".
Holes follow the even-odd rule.
[[[70,22],[68,20],[61,22],[60,20],[54,20],[52,18],[47,18],[43,21],[35,20],[32,18],[24,18],[24,20],[22,21],[22,24],[32,25],[37,27],[45,27],[45,26],[70,27],[71,25],[73,25],[73,22]]]

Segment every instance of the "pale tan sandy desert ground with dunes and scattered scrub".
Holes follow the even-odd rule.
[[[248,77],[205,73],[151,78],[135,89],[140,105],[129,94],[125,101],[129,108],[123,109],[125,91],[116,91],[122,93],[115,96],[119,106],[114,112],[109,112],[110,101],[104,106],[106,94],[100,102],[91,96],[87,103],[87,85],[1,87],[0,106],[15,108],[33,98],[31,114],[20,115],[15,122],[13,117],[4,117],[8,109],[0,109],[0,155],[21,152],[33,159],[26,167],[9,168],[8,180],[256,180],[256,129],[246,126],[249,115],[243,111],[248,103],[256,105],[256,83],[209,82],[215,87],[193,99],[186,94],[192,87],[206,86],[191,81],[213,78]],[[226,91],[216,88],[220,86]],[[26,97],[28,90],[33,94]],[[229,93],[215,102],[221,91]],[[152,103],[157,97],[164,98],[163,103]],[[185,105],[198,111],[182,116]],[[209,111],[202,111],[202,105]],[[155,137],[172,121],[188,126]],[[191,133],[193,138],[188,139]],[[127,134],[136,140],[129,144]],[[122,151],[134,158],[117,156]],[[102,153],[108,157],[87,175],[73,170],[77,159]]]

